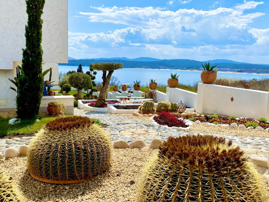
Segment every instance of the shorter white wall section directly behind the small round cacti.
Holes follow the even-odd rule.
[[[168,102],[184,103],[187,107],[196,107],[197,93],[179,88],[166,88],[166,100]]]

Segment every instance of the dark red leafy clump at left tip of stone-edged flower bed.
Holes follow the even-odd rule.
[[[158,124],[163,125],[163,126],[168,126],[168,127],[176,126],[176,127],[184,127],[184,128],[187,127],[184,124],[183,120],[178,120],[178,116],[170,112],[161,111],[159,116],[157,117],[155,116],[153,119]]]

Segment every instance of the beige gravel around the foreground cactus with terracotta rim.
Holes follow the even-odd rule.
[[[139,175],[148,158],[157,151],[114,150],[111,170],[80,184],[54,185],[36,181],[25,167],[26,157],[0,160],[0,167],[21,186],[27,201],[136,201]]]

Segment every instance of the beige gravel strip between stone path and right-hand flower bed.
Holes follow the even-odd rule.
[[[200,132],[200,133],[217,133],[227,135],[238,135],[247,137],[265,137],[269,138],[269,132],[265,130],[247,129],[247,128],[232,128],[232,127],[217,127],[207,126],[203,124],[193,124],[189,130],[185,132]]]

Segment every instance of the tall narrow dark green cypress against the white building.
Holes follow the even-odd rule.
[[[17,116],[20,119],[36,119],[39,114],[42,89],[42,24],[45,0],[26,0],[28,14],[25,26],[26,48],[22,53],[23,74],[18,80]]]

